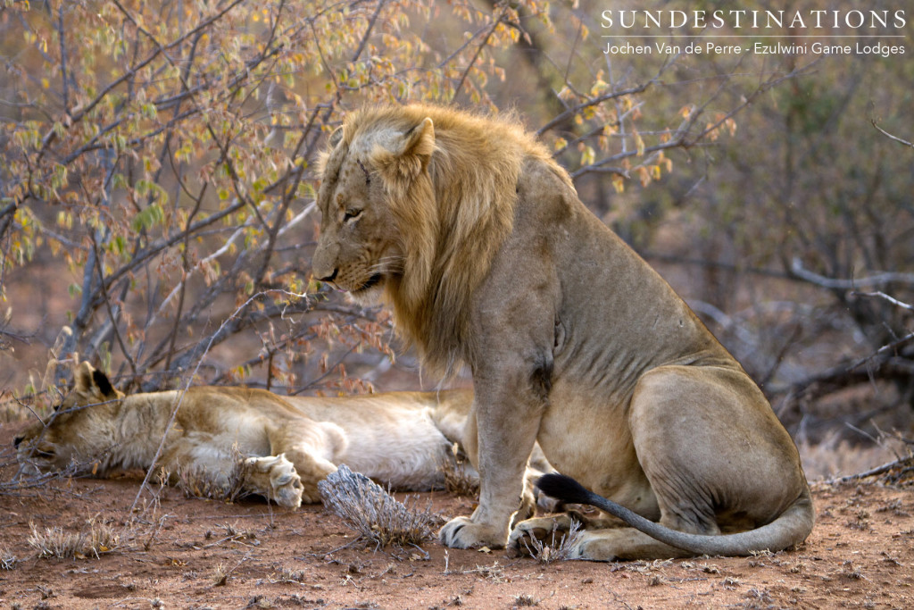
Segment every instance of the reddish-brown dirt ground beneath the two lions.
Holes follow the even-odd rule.
[[[0,424],[0,480],[17,426]],[[295,511],[162,489],[131,512],[135,478],[60,479],[0,494],[0,607],[873,608],[914,607],[914,488],[815,486],[818,522],[795,551],[666,562],[539,562],[504,551],[376,551],[320,506]],[[444,518],[473,500],[430,498]],[[101,555],[42,559],[33,529],[96,530]],[[110,549],[105,551],[105,549]]]

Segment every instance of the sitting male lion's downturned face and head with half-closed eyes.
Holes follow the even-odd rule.
[[[360,302],[403,277],[424,289],[437,223],[428,202],[434,149],[431,119],[416,112],[356,112],[336,130],[317,196],[317,279]]]

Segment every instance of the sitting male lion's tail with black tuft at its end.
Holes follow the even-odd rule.
[[[570,476],[558,474],[540,476],[537,480],[537,487],[552,498],[600,508],[655,540],[696,555],[739,556],[760,551],[781,551],[806,540],[813,530],[815,520],[813,499],[810,496],[809,487],[804,487],[800,497],[771,523],[755,530],[720,535],[689,534],[670,530],[593,493]]]

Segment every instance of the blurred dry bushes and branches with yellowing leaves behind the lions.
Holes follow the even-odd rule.
[[[604,8],[0,0],[5,417],[75,355],[125,391],[434,387],[310,273],[325,135],[427,101],[518,112],[796,438],[910,438],[914,61],[606,55]]]

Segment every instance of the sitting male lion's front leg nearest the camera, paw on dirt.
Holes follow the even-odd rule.
[[[502,381],[497,391],[491,391],[484,382],[473,380],[479,506],[472,517],[451,519],[441,528],[439,538],[449,547],[504,547],[512,517],[522,508],[524,474],[537,438],[543,401],[533,392],[516,391],[510,378]]]

